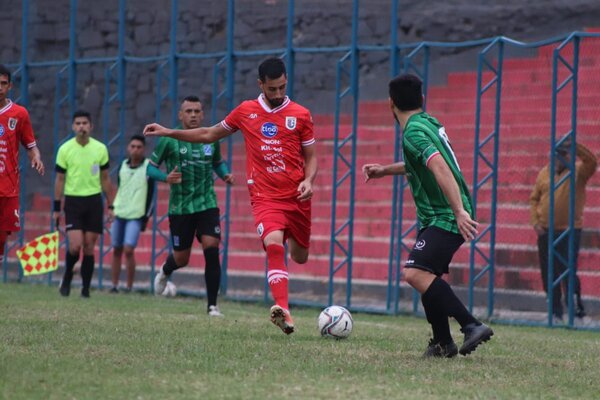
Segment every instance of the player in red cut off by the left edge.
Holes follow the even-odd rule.
[[[19,221],[19,143],[40,175],[44,164],[35,143],[29,113],[7,96],[11,88],[10,71],[0,65],[0,263],[4,245],[11,232],[21,229]]]

